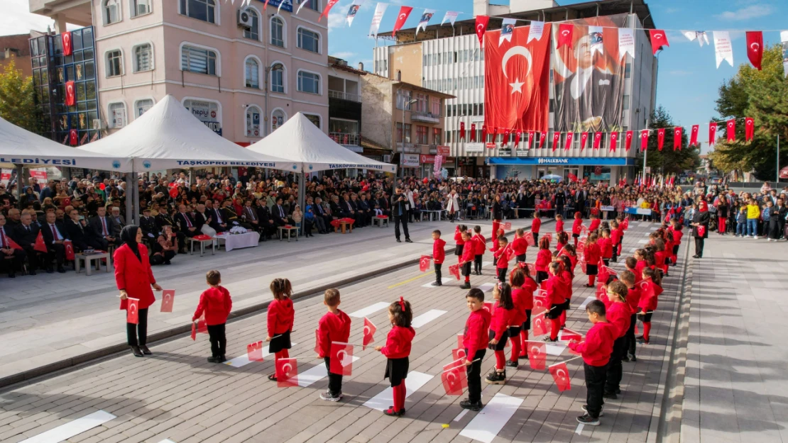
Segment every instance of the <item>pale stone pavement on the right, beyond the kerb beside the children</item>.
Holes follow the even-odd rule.
[[[690,264],[682,442],[788,441],[784,257],[785,242],[712,234]]]

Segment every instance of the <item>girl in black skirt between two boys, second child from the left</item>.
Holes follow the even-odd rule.
[[[268,352],[273,354],[274,367],[281,358],[290,358],[291,348],[290,333],[293,330],[293,321],[296,319],[296,310],[290,299],[293,293],[292,285],[288,279],[274,279],[269,286],[273,293],[273,301],[268,305]],[[276,382],[277,375],[269,375],[268,379]]]

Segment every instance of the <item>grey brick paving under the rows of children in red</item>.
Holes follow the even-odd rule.
[[[424,231],[421,237],[426,237],[435,226],[431,223],[421,227]],[[453,231],[448,223],[440,227],[443,231]],[[655,227],[651,223],[631,223],[624,251],[640,246],[637,241]],[[414,257],[429,253],[427,243],[423,239],[417,242]],[[359,250],[364,251],[361,255],[367,253],[363,245]],[[535,253],[535,249],[529,249],[529,260],[533,260]],[[490,257],[490,253],[485,255],[488,260]],[[455,257],[448,256],[448,261],[453,260]],[[614,267],[623,269],[623,263]],[[485,403],[496,393],[523,399],[521,407],[493,441],[649,441],[649,428],[659,413],[655,404],[661,398],[660,372],[669,351],[666,345],[673,317],[671,306],[678,292],[679,269],[681,264],[672,268],[674,275],[666,280],[666,292],[660,299],[663,309],[655,313],[652,321],[652,343],[638,348],[637,363],[625,364],[623,396],[605,405],[601,426],[586,426],[581,430],[574,420],[582,413],[580,406],[585,403],[582,369],[578,370],[582,367],[581,360],[569,364],[573,388],[564,393],[557,391],[548,371],[531,371],[524,363],[517,371],[508,368],[507,384],[487,386],[483,391]],[[202,273],[203,270],[195,270],[200,279]],[[273,275],[267,273],[264,286]],[[309,276],[300,278],[303,281]],[[225,282],[235,279],[236,276],[225,278]],[[462,397],[446,396],[440,382],[440,371],[452,360],[456,334],[462,332],[467,317],[466,291],[459,290],[461,282],[455,279],[440,288],[422,287],[432,279],[431,273],[422,274],[413,265],[341,288],[340,308],[348,313],[379,301],[394,301],[400,295],[411,301],[414,316],[430,309],[447,311],[417,330],[411,352],[411,373],[418,371],[433,378],[407,397],[407,414],[402,418],[387,417],[363,405],[388,387],[383,379],[385,357],[372,349],[356,349],[360,360],[353,365],[353,375],[344,378],[344,400],[327,403],[318,399],[318,393],[327,385],[325,378],[307,388],[280,389],[276,383],[269,382],[266,375],[273,371],[273,356],[243,367],[207,363],[210,345],[207,336],[200,334],[196,341],[180,337],[151,346],[154,352],[151,357],[138,359],[122,353],[60,375],[40,378],[27,386],[6,389],[0,393],[0,441],[23,441],[99,410],[117,418],[68,441],[158,443],[168,438],[177,443],[470,441],[459,433],[477,413],[467,413],[454,421],[462,411],[459,408]],[[589,325],[578,305],[593,296],[593,289],[582,287],[585,279],[578,267],[573,309],[567,319],[567,327],[582,333]],[[471,276],[474,286],[493,280],[491,264],[485,266],[484,275]],[[230,289],[234,300],[236,293],[243,293],[234,291],[232,286]],[[487,294],[492,297],[491,293]],[[181,301],[177,299],[176,304]],[[195,302],[189,303],[180,316],[185,318],[185,312],[190,312],[194,305]],[[297,345],[291,349],[291,356],[298,359],[299,371],[303,372],[322,365],[321,360],[314,358],[314,329],[325,307],[322,297],[303,298],[295,305],[292,341]],[[176,323],[179,314],[172,316]],[[229,357],[242,356],[247,343],[265,338],[265,319],[265,314],[260,313],[228,324]],[[376,338],[382,344],[388,333],[385,309],[370,315],[370,319],[378,327]],[[117,316],[112,318],[114,323],[119,320],[122,322]],[[362,319],[353,319],[350,341],[358,343],[361,339]],[[564,352],[562,356],[548,357],[548,364],[569,358],[571,355]],[[483,362],[484,374],[493,364],[494,357],[488,353]],[[446,423],[448,428],[443,426]]]

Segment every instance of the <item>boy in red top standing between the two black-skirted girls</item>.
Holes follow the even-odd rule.
[[[331,343],[338,341],[347,343],[350,338],[350,317],[340,311],[340,291],[331,288],[325,290],[323,305],[329,312],[325,313],[318,322],[318,347],[320,353],[318,358],[325,362],[325,369],[329,372],[329,389],[320,394],[321,400],[340,401],[342,400],[342,375],[331,372]]]

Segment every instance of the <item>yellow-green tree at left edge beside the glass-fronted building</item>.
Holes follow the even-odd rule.
[[[28,131],[39,132],[41,120],[35,105],[33,79],[25,79],[13,59],[0,72],[0,117]]]

